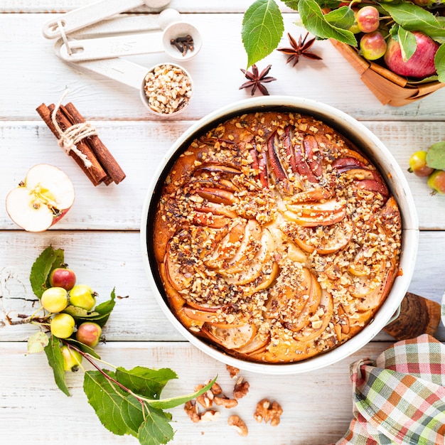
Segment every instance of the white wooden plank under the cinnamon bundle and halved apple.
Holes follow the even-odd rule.
[[[92,186],[73,159],[60,149],[43,122],[0,121],[1,149],[5,154],[0,193],[6,196],[34,164],[53,163],[70,176],[76,191],[73,208],[56,229],[139,230],[142,205],[154,173],[173,142],[193,122],[103,122],[95,119],[91,122],[127,173],[122,183]],[[363,124],[390,149],[402,168],[414,196],[420,228],[444,230],[445,199],[431,195],[427,181],[408,173],[407,169],[413,151],[426,150],[445,137],[445,122],[364,121]],[[15,228],[5,208],[0,207],[0,229]]]

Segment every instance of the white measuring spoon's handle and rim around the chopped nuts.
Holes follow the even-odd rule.
[[[54,50],[56,55],[60,57],[60,47],[63,45],[63,40],[60,38],[55,42]],[[181,110],[178,110],[176,113],[171,114],[159,114],[151,108],[149,104],[149,97],[147,97],[145,92],[146,86],[146,75],[149,74],[155,67],[150,69],[145,68],[136,63],[130,62],[129,60],[125,60],[123,58],[110,58],[103,60],[86,60],[84,62],[68,62],[68,65],[71,65],[75,68],[80,68],[80,70],[87,70],[92,73],[97,73],[103,75],[105,77],[109,77],[109,79],[116,80],[124,85],[135,88],[139,90],[139,97],[141,98],[144,107],[157,114],[159,116],[173,116],[178,112],[183,111],[183,107]],[[174,63],[170,63],[170,65],[176,65]],[[176,65],[179,66],[179,65]],[[193,92],[193,82],[191,75],[182,67],[184,73],[188,76],[192,84],[192,92]],[[189,101],[190,102],[190,101]]]

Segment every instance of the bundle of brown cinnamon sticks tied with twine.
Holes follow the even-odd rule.
[[[57,139],[62,139],[63,134],[60,134],[58,128],[53,123],[53,112],[55,105],[50,104],[46,106],[41,104],[36,108],[39,116],[43,119],[43,122],[53,132]],[[77,111],[72,103],[68,103],[65,106],[60,105],[55,113],[55,120],[62,130],[66,132],[68,129],[76,124],[87,124],[82,114]],[[84,159],[82,159],[75,151],[69,150],[68,155],[71,156],[77,163],[82,171],[87,175],[94,186],[104,183],[107,186],[114,182],[120,183],[125,178],[125,173],[117,163],[116,159],[112,156],[106,146],[99,139],[97,134],[91,134],[86,136],[77,142],[76,148],[82,156],[87,160],[85,165]]]

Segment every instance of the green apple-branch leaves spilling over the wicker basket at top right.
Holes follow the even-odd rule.
[[[282,0],[278,3],[275,0],[256,0],[245,11],[242,21],[241,37],[247,53],[247,68],[279,45],[284,33],[279,3],[297,11],[300,20],[295,24],[303,26],[316,38],[358,46],[351,28],[355,21],[353,6],[359,6],[360,0]],[[428,36],[438,47],[434,55],[436,74],[419,82],[445,82],[445,17],[440,14],[445,6],[443,0],[367,0],[363,4],[378,9],[380,19],[385,19],[386,38],[400,45],[404,62],[412,58],[417,49],[418,39],[414,33]],[[424,50],[423,47],[421,49]]]

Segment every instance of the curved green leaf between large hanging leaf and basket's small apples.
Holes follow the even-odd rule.
[[[299,13],[304,27],[314,36],[334,38],[348,45],[357,46],[354,34],[329,23],[315,0],[300,0]]]

